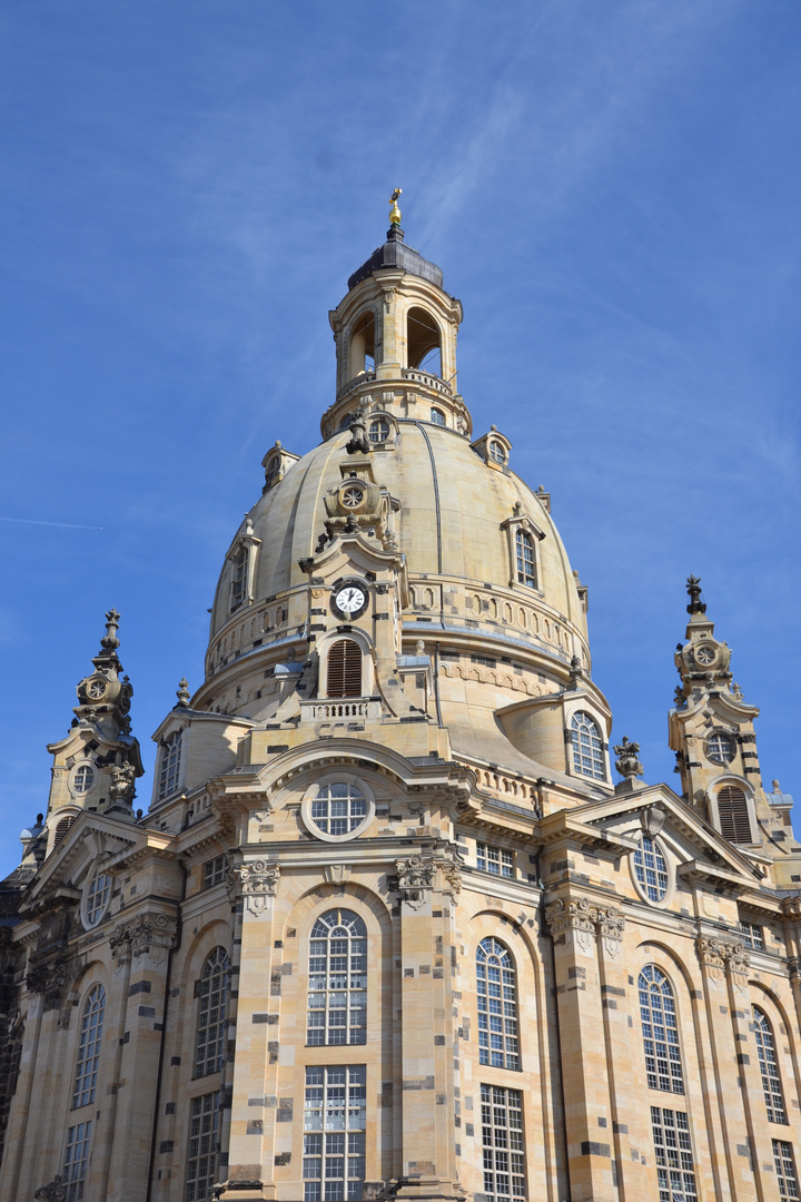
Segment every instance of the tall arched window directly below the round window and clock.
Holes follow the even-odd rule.
[[[329,910],[309,944],[307,1043],[364,1043],[367,928],[352,910]]]

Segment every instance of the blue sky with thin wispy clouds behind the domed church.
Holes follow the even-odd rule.
[[[590,585],[615,737],[676,784],[695,572],[765,780],[801,801],[800,102],[797,0],[8,0],[0,869],[112,605],[147,805],[222,554],[265,450],[319,438],[328,310],[396,184],[465,305],[476,432],[551,492]]]

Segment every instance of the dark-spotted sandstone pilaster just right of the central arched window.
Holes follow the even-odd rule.
[[[402,1166],[397,1197],[464,1198],[453,1141],[459,1045],[453,1018],[458,852],[396,861],[402,1011]],[[437,917],[435,917],[435,909]],[[441,971],[435,958],[442,957]],[[436,974],[436,975],[435,975]]]

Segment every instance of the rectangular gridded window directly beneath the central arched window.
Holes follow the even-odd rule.
[[[306,1069],[303,1179],[305,1202],[363,1197],[366,1070],[359,1064]]]

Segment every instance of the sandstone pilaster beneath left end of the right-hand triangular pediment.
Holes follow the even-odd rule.
[[[606,1078],[602,993],[596,954],[597,908],[566,891],[545,910],[554,939],[564,1127],[572,1202],[615,1202],[611,1099]]]

